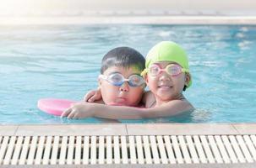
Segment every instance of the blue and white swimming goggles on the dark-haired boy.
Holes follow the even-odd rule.
[[[128,76],[128,79],[124,78],[120,73],[112,73],[109,76],[100,75],[99,78],[108,81],[116,87],[121,87],[125,81],[128,81],[130,87],[139,87],[144,84],[143,77],[137,74]]]

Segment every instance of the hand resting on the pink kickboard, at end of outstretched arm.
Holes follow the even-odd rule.
[[[62,113],[62,118],[67,117],[68,119],[78,119],[78,118],[90,118],[93,117],[93,110],[90,107],[93,104],[88,102],[77,102],[74,103],[70,108],[66,109]]]

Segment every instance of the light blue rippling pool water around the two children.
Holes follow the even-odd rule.
[[[134,123],[256,122],[256,26],[62,25],[0,27],[0,123],[101,123],[36,108],[41,97],[79,100],[97,87],[102,56],[130,46],[143,55],[161,40],[188,50],[196,110]]]

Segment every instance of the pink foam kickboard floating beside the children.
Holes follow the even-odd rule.
[[[38,100],[37,107],[45,113],[60,116],[63,111],[71,106],[76,101],[57,99],[57,98],[42,98]]]

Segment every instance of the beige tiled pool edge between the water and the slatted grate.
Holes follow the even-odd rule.
[[[256,134],[256,123],[2,124],[0,136]]]

